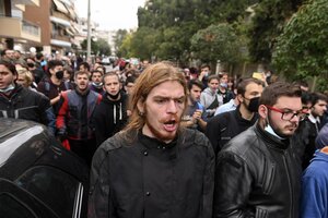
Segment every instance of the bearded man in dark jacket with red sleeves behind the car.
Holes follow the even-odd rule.
[[[102,100],[102,95],[90,90],[89,72],[75,72],[74,81],[77,85],[74,90],[61,93],[56,126],[59,140],[67,138],[70,149],[91,166],[92,156],[96,150],[91,120]]]

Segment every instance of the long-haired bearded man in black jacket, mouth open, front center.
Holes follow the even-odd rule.
[[[187,93],[176,68],[143,71],[129,124],[94,155],[90,218],[211,217],[214,154],[202,133],[180,126]]]

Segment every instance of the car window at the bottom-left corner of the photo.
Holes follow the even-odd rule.
[[[36,218],[32,211],[9,194],[0,195],[0,215],[5,218]]]

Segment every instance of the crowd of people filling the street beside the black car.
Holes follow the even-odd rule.
[[[91,169],[89,217],[328,217],[328,97],[168,62],[5,49],[0,117],[48,126]]]

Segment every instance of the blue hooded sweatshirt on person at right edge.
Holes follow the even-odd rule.
[[[328,217],[328,146],[315,153],[311,165],[304,171],[301,217]]]

